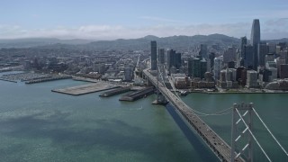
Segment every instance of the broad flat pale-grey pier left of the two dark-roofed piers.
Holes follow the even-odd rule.
[[[61,93],[61,94],[71,94],[71,95],[81,95],[81,94],[90,94],[99,91],[109,90],[119,87],[118,85],[112,85],[105,82],[98,82],[95,84],[88,85],[78,85],[62,89],[53,89],[52,92]]]

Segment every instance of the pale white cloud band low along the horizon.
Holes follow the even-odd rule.
[[[161,19],[156,17],[143,17],[157,22],[170,22],[174,20]],[[141,27],[129,27],[123,25],[82,25],[78,27],[57,26],[47,29],[24,29],[18,25],[1,25],[0,39],[17,38],[59,38],[59,39],[90,39],[90,40],[115,40],[133,39],[146,35],[156,35],[166,37],[173,35],[208,35],[213,33],[226,34],[232,37],[242,37],[250,35],[252,23],[220,23],[220,24],[156,24]],[[261,23],[261,38],[280,39],[288,37],[288,19],[277,19]]]

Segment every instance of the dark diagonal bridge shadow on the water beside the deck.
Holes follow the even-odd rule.
[[[210,148],[206,146],[204,141],[190,128],[186,125],[183,119],[175,112],[175,108],[170,103],[166,104],[166,110],[173,117],[176,124],[183,131],[184,136],[188,139],[190,144],[193,146],[196,153],[202,159],[202,161],[218,161],[219,158],[214,155]],[[193,160],[192,160],[193,161]]]

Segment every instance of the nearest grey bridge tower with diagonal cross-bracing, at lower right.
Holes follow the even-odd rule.
[[[245,157],[247,161],[253,161],[253,137],[250,132],[252,130],[252,112],[253,103],[234,103],[231,129],[231,162],[238,161],[240,156]],[[243,129],[243,126],[240,128],[240,121],[244,123],[244,130],[239,130]],[[244,147],[240,148],[241,146]]]

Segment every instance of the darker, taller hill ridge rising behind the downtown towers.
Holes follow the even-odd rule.
[[[212,45],[219,44],[220,46],[231,46],[238,44],[239,39],[229,37],[222,34],[212,35],[194,35],[194,36],[171,36],[159,38],[153,35],[148,35],[139,39],[130,40],[109,40],[109,41],[94,41],[82,46],[87,49],[149,49],[150,40],[157,40],[159,48],[172,49],[187,49],[189,47],[198,46],[200,43]]]

